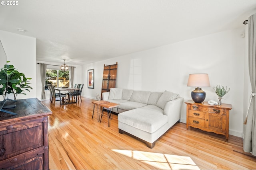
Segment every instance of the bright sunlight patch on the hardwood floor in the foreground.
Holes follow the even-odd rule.
[[[156,169],[190,169],[200,170],[189,156],[179,156],[171,154],[144,152],[138,150],[118,150],[112,149],[122,155],[139,160],[154,166]]]

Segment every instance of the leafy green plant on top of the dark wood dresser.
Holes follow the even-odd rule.
[[[10,61],[7,61],[9,63]],[[7,76],[7,86],[6,86],[6,76]],[[24,73],[18,72],[17,68],[14,68],[13,65],[5,64],[0,71],[0,77],[5,77],[5,82],[0,82],[2,84],[2,88],[0,88],[0,95],[6,98],[6,94],[13,94],[14,100],[16,100],[18,94],[25,94],[24,91],[30,92],[29,89],[33,89],[29,86],[29,81],[31,78],[26,78]]]

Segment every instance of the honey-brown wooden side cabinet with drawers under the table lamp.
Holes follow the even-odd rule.
[[[225,135],[228,141],[230,104],[209,105],[207,102],[195,103],[193,100],[187,104],[187,130],[195,127],[203,131]]]

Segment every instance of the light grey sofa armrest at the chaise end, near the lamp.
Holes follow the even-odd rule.
[[[184,99],[180,97],[166,103],[164,107],[164,115],[168,116],[168,122],[178,121],[181,118],[183,100]]]

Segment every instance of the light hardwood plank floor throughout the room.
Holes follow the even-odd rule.
[[[178,123],[153,149],[126,134],[118,133],[117,115],[108,127],[107,114],[92,119],[94,100],[60,106],[43,103],[48,117],[50,169],[256,169],[256,157],[243,152],[242,139],[199,129],[187,131]]]

